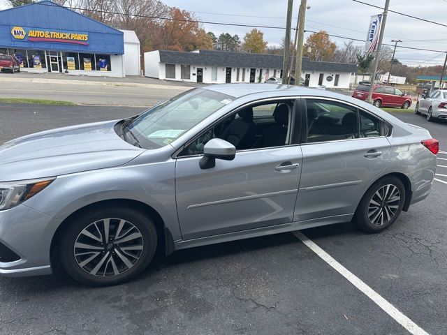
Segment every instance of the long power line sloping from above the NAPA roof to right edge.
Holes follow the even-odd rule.
[[[357,1],[357,0],[353,0]],[[35,3],[39,6],[54,6],[50,5],[48,3]],[[132,16],[132,17],[145,17],[149,19],[154,20],[168,20],[168,21],[179,21],[179,22],[193,22],[193,23],[203,23],[203,24],[218,24],[223,26],[235,26],[235,27],[250,27],[250,28],[266,28],[266,29],[286,29],[286,27],[279,27],[279,26],[265,26],[265,25],[258,25],[258,24],[237,24],[237,23],[228,23],[228,22],[212,22],[212,21],[203,21],[203,20],[189,20],[189,19],[178,19],[173,17],[161,17],[161,16],[154,16],[154,15],[141,15],[141,14],[129,14],[129,13],[119,13],[119,12],[112,12],[110,10],[98,10],[98,9],[88,9],[88,8],[79,8],[79,7],[71,7],[71,6],[61,6],[63,8],[68,8],[71,10],[80,10],[80,11],[86,11],[86,12],[96,12],[96,13],[104,13],[104,14],[112,14],[112,15],[124,15],[124,16]],[[295,30],[296,28],[292,28],[292,30]],[[328,33],[322,33],[320,31],[313,31],[309,29],[305,29],[305,32],[314,33],[314,34],[327,34],[328,36],[336,37],[336,38],[344,38],[346,40],[356,40],[358,42],[365,43],[365,40],[360,40],[359,38],[350,38],[347,36],[341,36],[336,34],[328,34]],[[390,47],[393,47],[394,45],[385,44]],[[443,50],[430,50],[430,49],[423,49],[420,47],[406,47],[403,45],[399,45],[398,47],[409,49],[409,50],[420,50],[420,51],[431,51],[431,52],[445,52]]]

